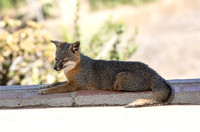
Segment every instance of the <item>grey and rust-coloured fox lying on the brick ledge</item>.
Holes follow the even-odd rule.
[[[72,44],[51,41],[56,46],[54,69],[64,69],[67,78],[41,86],[40,94],[78,90],[152,91],[152,96],[137,99],[126,107],[141,107],[169,103],[171,85],[153,69],[141,62],[93,60],[80,52],[80,42]]]

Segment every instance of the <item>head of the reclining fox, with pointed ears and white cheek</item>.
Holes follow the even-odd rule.
[[[64,68],[73,69],[80,60],[80,42],[66,43],[60,41],[51,41],[56,46],[55,66],[56,71]]]

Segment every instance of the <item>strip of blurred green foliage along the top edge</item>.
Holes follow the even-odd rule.
[[[88,0],[93,11],[102,8],[112,8],[121,4],[141,5],[147,4],[156,0]]]

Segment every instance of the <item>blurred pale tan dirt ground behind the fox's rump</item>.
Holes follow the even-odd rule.
[[[169,79],[199,78],[200,1],[165,0],[146,10],[146,23],[136,38],[138,52],[131,59]]]

